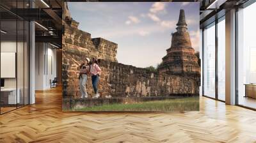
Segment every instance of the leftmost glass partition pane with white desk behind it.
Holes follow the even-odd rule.
[[[1,113],[16,109],[17,21],[1,21]],[[19,95],[19,94],[18,94]]]

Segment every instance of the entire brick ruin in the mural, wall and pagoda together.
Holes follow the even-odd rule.
[[[63,97],[79,98],[79,64],[86,57],[102,59],[99,80],[99,93],[102,97],[198,96],[200,67],[186,32],[184,11],[181,10],[180,15],[177,33],[172,36],[172,46],[167,50],[168,54],[163,57],[163,63],[157,72],[118,63],[116,43],[103,38],[92,38],[90,33],[77,28],[78,22],[66,17],[62,38]],[[90,77],[86,87],[89,96],[92,96]]]

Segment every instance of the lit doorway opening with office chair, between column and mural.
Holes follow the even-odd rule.
[[[61,49],[52,43],[35,43],[36,92],[61,86]]]

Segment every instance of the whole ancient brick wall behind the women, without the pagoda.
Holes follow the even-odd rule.
[[[75,23],[76,24],[76,23]],[[117,63],[117,44],[102,38],[91,38],[90,33],[75,26],[63,27],[63,96],[79,97],[79,64],[86,57],[99,57],[102,74],[99,92],[102,97],[115,96],[174,96],[199,95],[200,75],[150,72],[145,68]],[[93,95],[92,80],[86,84]]]

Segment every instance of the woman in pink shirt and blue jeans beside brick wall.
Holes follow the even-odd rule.
[[[92,59],[92,65],[90,68],[90,73],[92,74],[92,86],[94,89],[95,96],[93,98],[99,98],[99,91],[98,91],[98,82],[99,76],[101,73],[101,69],[99,67],[99,61],[95,58]]]

